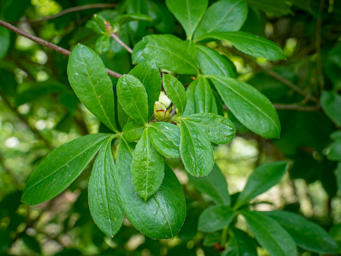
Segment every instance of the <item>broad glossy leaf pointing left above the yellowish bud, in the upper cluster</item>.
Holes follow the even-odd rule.
[[[199,73],[194,57],[187,51],[185,42],[170,35],[150,35],[143,38],[147,41],[142,56],[155,59],[160,68],[178,74]]]

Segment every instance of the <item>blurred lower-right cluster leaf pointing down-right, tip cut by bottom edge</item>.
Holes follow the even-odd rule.
[[[295,241],[274,219],[262,212],[241,212],[256,240],[269,253],[276,256],[297,256]]]

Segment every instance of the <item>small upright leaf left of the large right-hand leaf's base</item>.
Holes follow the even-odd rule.
[[[208,80],[201,77],[195,88],[194,100],[196,113],[210,113],[212,112],[213,93]]]

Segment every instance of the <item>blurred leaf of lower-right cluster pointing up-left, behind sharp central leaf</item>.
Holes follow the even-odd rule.
[[[188,176],[190,182],[201,193],[211,197],[216,204],[230,205],[230,194],[227,190],[226,178],[220,168],[215,164],[212,171],[205,177]]]

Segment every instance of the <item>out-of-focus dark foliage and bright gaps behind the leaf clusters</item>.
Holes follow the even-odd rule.
[[[317,98],[321,85],[338,92],[341,89],[341,44],[338,44],[341,1],[247,2],[249,15],[241,30],[275,41],[283,47],[287,59],[277,62],[247,59],[229,44],[212,42],[209,46],[233,61],[239,79],[255,86],[275,103],[282,133],[279,139],[261,138],[224,110],[236,124],[237,137],[230,144],[215,147],[216,164],[226,177],[230,194],[235,194],[242,190],[249,174],[261,163],[292,159],[289,174],[279,185],[257,197],[252,207],[300,213],[341,243],[341,187],[338,191],[341,166],[337,168],[336,161],[327,159],[332,143],[329,136],[340,127],[322,112],[319,103],[310,104],[309,97],[295,93],[266,72],[274,70]],[[71,7],[95,3],[117,3],[117,6],[34,21]],[[322,10],[321,18],[319,10]],[[1,19],[69,50],[81,42],[100,51],[95,46],[99,35],[86,26],[98,12],[106,17],[117,13],[142,13],[152,17],[151,22],[132,21],[120,31],[120,39],[132,48],[148,34],[174,34],[185,38],[181,25],[161,0],[0,1]],[[321,31],[317,31],[319,22]],[[6,33],[9,32],[0,27],[0,36]],[[129,72],[133,66],[130,54],[114,40],[110,40],[107,53],[100,57],[106,67],[121,74]],[[91,164],[60,196],[37,206],[20,203],[28,177],[52,149],[81,135],[106,131],[73,93],[66,65],[66,57],[10,32],[9,50],[0,63],[0,255],[219,255],[214,246],[215,235],[204,236],[197,231],[200,213],[213,203],[189,182],[180,159],[169,162],[183,186],[187,216],[179,235],[171,240],[143,236],[127,219],[118,235],[113,238],[104,235],[94,224],[87,204]],[[179,79],[184,85],[191,80],[189,76]],[[160,100],[167,104],[164,94]],[[288,106],[292,109],[288,110]],[[341,105],[336,106],[335,113],[340,113]],[[336,174],[339,174],[338,179]],[[238,226],[247,228],[243,219]],[[304,256],[314,255],[299,252]],[[259,250],[259,255],[267,254]]]

